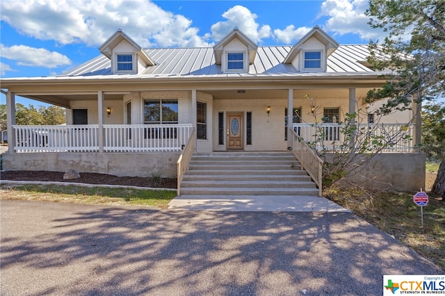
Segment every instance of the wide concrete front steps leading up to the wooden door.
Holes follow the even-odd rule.
[[[315,183],[290,152],[195,154],[181,196],[318,195]]]

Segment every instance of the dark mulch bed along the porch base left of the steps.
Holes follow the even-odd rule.
[[[8,171],[1,172],[1,180],[10,181],[57,181],[57,182],[71,182],[71,183],[87,183],[87,184],[108,184],[108,185],[122,185],[122,186],[138,186],[138,187],[161,187],[161,188],[176,188],[177,179],[163,178],[160,185],[150,177],[138,176],[113,176],[111,174],[97,174],[97,173],[80,173],[79,179],[63,179],[63,172],[46,172],[46,171]]]

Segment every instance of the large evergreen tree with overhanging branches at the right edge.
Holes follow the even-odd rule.
[[[369,62],[391,70],[387,83],[367,99],[389,98],[380,111],[390,113],[445,97],[445,1],[370,0],[366,13],[371,27],[388,34],[381,45],[371,42]],[[436,183],[445,184],[445,165]],[[433,193],[444,196],[445,185],[441,188]]]

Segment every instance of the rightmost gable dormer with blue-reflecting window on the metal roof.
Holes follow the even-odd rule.
[[[289,51],[285,64],[292,64],[300,72],[326,72],[327,57],[339,43],[319,26],[314,26]]]

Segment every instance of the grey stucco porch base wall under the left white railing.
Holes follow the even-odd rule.
[[[115,176],[176,178],[179,153],[4,153],[4,170],[95,172]]]

